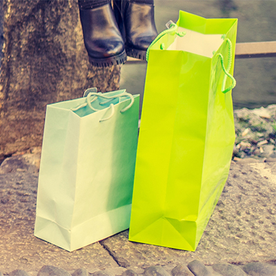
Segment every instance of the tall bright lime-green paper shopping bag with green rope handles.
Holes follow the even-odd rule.
[[[233,152],[237,19],[169,25],[148,51],[129,239],[194,251]]]

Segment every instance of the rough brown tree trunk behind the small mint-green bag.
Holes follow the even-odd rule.
[[[119,88],[119,66],[88,62],[77,0],[3,0],[3,37],[0,159],[41,146],[48,103]]]

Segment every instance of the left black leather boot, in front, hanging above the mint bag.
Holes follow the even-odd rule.
[[[90,63],[97,67],[119,65],[126,61],[124,40],[111,3],[82,9],[79,6],[83,40]]]

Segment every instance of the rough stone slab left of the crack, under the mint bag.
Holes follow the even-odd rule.
[[[0,175],[0,271],[23,269],[37,275],[44,265],[73,272],[85,267],[89,273],[118,268],[99,242],[69,253],[34,237],[37,173],[26,171]]]

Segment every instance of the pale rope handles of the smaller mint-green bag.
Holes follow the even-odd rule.
[[[86,95],[86,92],[84,92],[84,95]],[[91,97],[94,96],[92,99]],[[115,96],[106,96],[106,95],[103,95],[101,92],[97,93],[97,92],[89,92],[88,95],[86,96],[86,103],[83,103],[81,104],[80,106],[77,106],[77,108],[71,108],[72,111],[77,111],[81,108],[84,108],[86,106],[89,106],[89,108],[93,111],[99,111],[100,109],[97,109],[97,108],[93,108],[92,107],[92,102],[95,101],[97,98],[102,98],[102,99],[107,99],[107,101],[101,101],[99,103],[99,105],[103,105],[105,103],[108,103],[109,101],[112,101],[113,99],[117,99],[117,98],[120,98],[120,97],[130,97],[130,104],[128,106],[126,106],[125,108],[123,108],[122,110],[120,110],[121,113],[124,113],[126,112],[126,110],[128,110],[129,108],[131,108],[132,104],[134,103],[135,99],[134,97],[128,93],[128,92],[122,92],[118,95],[115,95]],[[115,114],[115,108],[114,108],[114,104],[111,103],[109,108],[111,108],[111,115],[107,118],[104,118],[104,119],[100,119],[100,122],[101,121],[107,121],[108,119],[110,119],[114,114]]]

